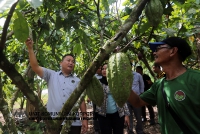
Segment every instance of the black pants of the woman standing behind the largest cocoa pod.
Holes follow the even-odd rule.
[[[124,118],[125,116],[119,117],[118,112],[113,114],[106,114],[106,117],[98,114],[101,134],[123,134]]]

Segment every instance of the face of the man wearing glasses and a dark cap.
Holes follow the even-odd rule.
[[[167,44],[160,45],[156,48],[153,53],[155,58],[155,63],[161,65],[161,63],[170,60],[171,47]]]

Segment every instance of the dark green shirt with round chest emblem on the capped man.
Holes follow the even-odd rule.
[[[162,134],[183,134],[165,107],[161,89],[163,79],[157,80],[140,97],[150,105],[157,105]],[[173,80],[164,80],[164,90],[177,116],[193,134],[200,134],[200,71],[187,69]]]

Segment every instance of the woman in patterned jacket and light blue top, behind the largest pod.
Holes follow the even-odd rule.
[[[101,134],[123,134],[124,124],[129,125],[130,113],[126,103],[120,108],[115,102],[109,90],[106,68],[107,64],[104,64],[102,66],[103,77],[100,79],[104,90],[104,102],[102,106],[96,106]]]

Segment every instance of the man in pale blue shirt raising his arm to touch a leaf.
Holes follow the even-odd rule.
[[[26,46],[29,52],[29,60],[32,70],[42,79],[47,82],[48,86],[48,112],[60,112],[63,105],[78,86],[80,79],[73,75],[75,66],[75,58],[72,54],[66,54],[62,57],[60,62],[61,70],[56,72],[54,70],[44,68],[38,65],[36,56],[33,51],[33,41],[28,38]],[[80,106],[81,112],[86,112],[85,101]],[[56,116],[52,115],[52,118]],[[62,124],[63,125],[63,124]],[[62,128],[62,126],[61,126]],[[82,121],[82,133],[86,133],[88,128],[88,121]],[[76,120],[72,123],[69,134],[80,134],[81,122]]]

